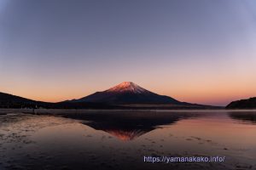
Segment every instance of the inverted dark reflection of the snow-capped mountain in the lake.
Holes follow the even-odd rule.
[[[64,115],[68,118],[84,120],[83,124],[96,130],[110,133],[118,139],[127,141],[148,133],[163,125],[171,125],[181,119],[198,116],[194,113],[170,114],[166,112],[99,112]]]

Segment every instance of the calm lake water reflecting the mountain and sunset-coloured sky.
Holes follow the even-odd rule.
[[[1,113],[8,113],[0,115],[1,170],[256,169],[256,111]],[[153,163],[148,156],[224,161]]]

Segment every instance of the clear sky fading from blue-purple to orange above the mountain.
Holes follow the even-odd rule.
[[[256,2],[0,0],[0,77],[44,101],[129,81],[227,105],[256,96]]]

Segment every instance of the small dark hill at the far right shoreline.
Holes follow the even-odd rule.
[[[256,109],[256,97],[232,101],[227,109]]]

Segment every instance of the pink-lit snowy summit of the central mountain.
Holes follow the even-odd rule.
[[[113,92],[113,93],[124,93],[124,92],[131,92],[134,94],[142,94],[148,92],[148,90],[141,88],[134,82],[122,82],[113,88],[109,88],[106,92]]]

